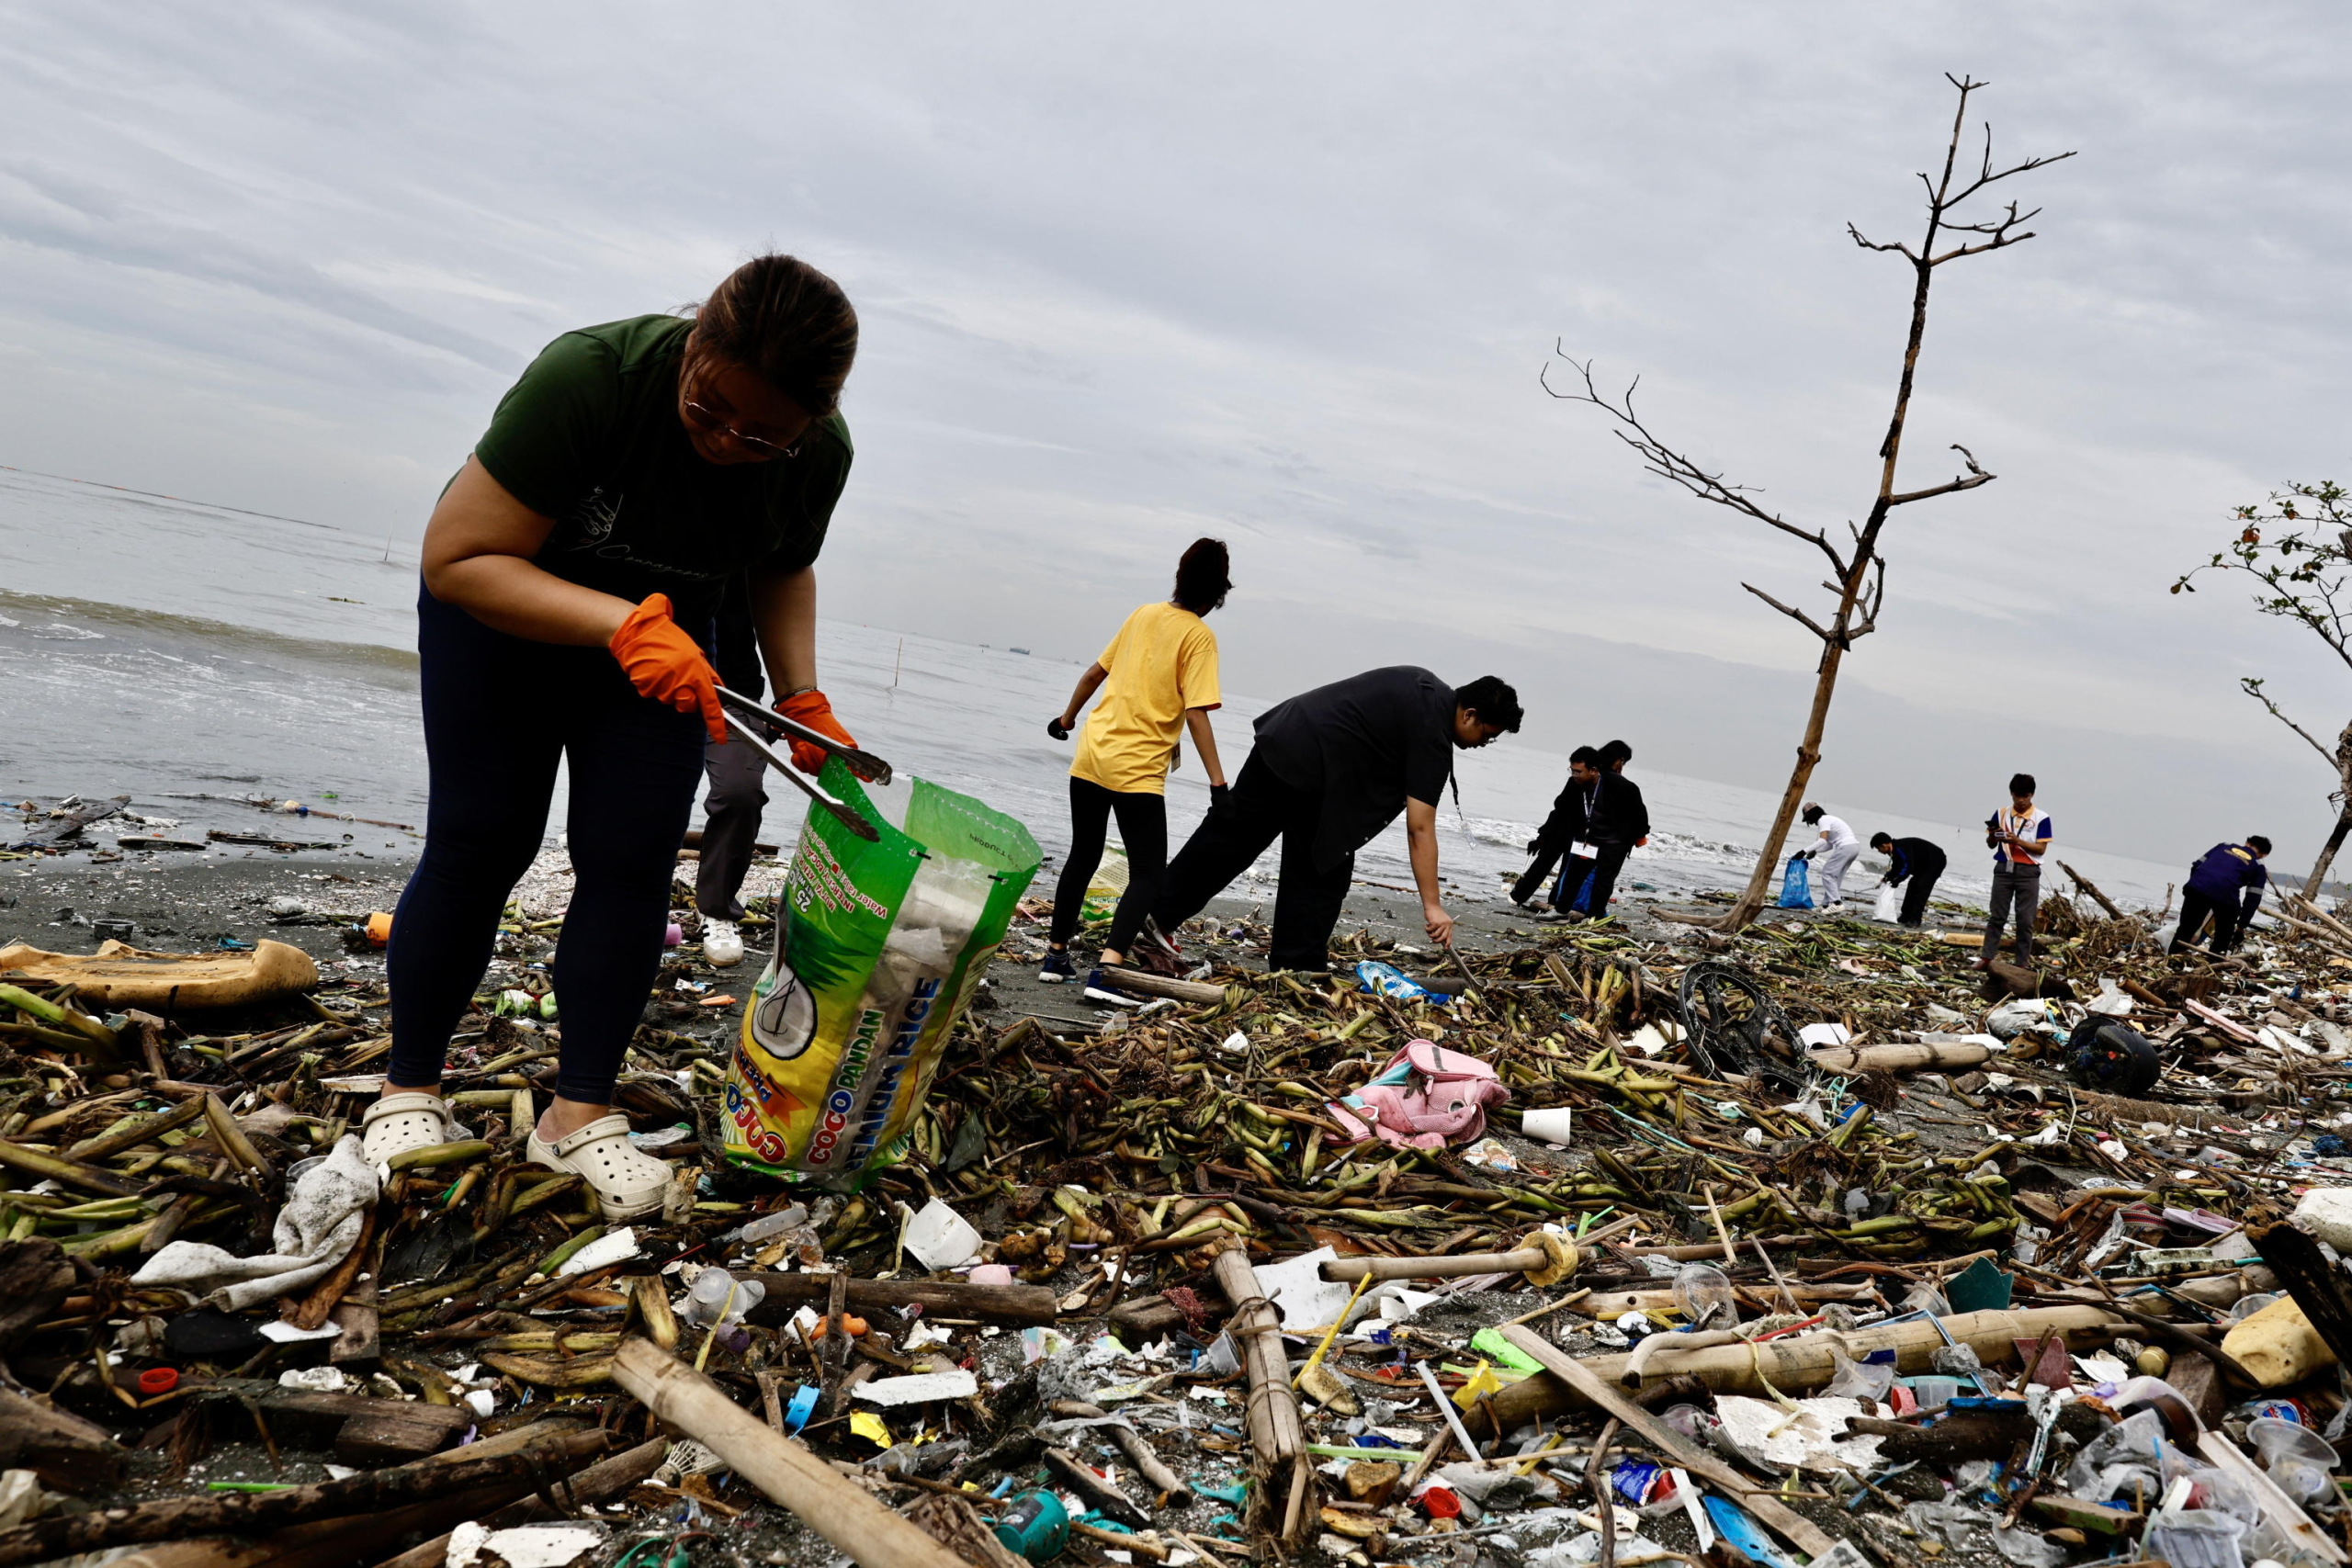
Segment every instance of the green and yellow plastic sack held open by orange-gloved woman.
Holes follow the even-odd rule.
[[[854,1187],[896,1157],[1042,856],[1021,823],[929,780],[868,790],[840,757],[821,778],[882,837],[809,806],[727,1065],[727,1157]]]

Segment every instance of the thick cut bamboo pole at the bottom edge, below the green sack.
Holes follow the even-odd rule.
[[[720,1385],[652,1340],[626,1340],[614,1352],[612,1375],[647,1410],[706,1443],[849,1561],[863,1568],[964,1568],[960,1556],[891,1514],[793,1439],[769,1432]]]

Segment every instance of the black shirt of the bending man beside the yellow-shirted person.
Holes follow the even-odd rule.
[[[1322,795],[1317,867],[1369,844],[1406,799],[1435,806],[1454,776],[1454,686],[1414,665],[1301,691],[1268,708],[1256,731],[1275,778]]]

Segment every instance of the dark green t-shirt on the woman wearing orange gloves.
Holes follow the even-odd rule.
[[[849,480],[849,425],[818,421],[800,456],[706,463],[677,418],[694,322],[640,315],[548,343],[499,400],[473,456],[515,501],[555,520],[536,564],[637,604],[670,595],[708,630],[736,571],[800,571],[826,543]]]

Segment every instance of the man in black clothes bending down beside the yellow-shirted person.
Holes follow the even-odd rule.
[[[1428,670],[1367,670],[1268,708],[1225,799],[1169,863],[1152,922],[1167,936],[1282,839],[1268,969],[1329,969],[1355,851],[1404,813],[1430,940],[1454,940],[1437,884],[1437,797],[1454,752],[1519,729],[1519,693],[1494,675],[1449,686]]]

